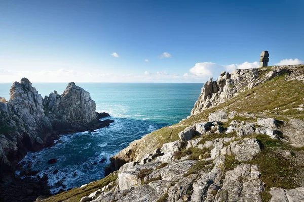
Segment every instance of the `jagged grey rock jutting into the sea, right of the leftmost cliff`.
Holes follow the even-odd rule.
[[[61,95],[54,91],[45,96],[43,105],[54,131],[59,133],[94,130],[109,124],[109,120],[99,121],[103,116],[95,112],[90,93],[74,82],[68,83]]]

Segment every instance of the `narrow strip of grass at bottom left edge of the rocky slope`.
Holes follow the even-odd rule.
[[[57,195],[51,196],[47,199],[44,199],[45,202],[61,202],[69,199],[69,201],[80,201],[80,199],[84,196],[90,195],[94,191],[100,189],[101,187],[108,185],[110,182],[115,182],[117,179],[117,174],[113,175],[112,173],[105,178],[89,183],[87,186],[83,188],[73,188],[68,191],[64,191]]]

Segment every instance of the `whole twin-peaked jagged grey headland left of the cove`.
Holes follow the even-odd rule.
[[[89,92],[69,83],[62,95],[42,98],[31,82],[22,78],[10,89],[9,102],[0,102],[0,182],[15,174],[15,165],[27,151],[46,146],[59,133],[108,126],[100,121]]]

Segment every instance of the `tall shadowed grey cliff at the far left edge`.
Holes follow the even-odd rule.
[[[45,117],[42,96],[28,79],[15,82],[10,101],[0,103],[0,175],[6,181],[14,175],[14,164],[27,151],[41,147],[53,133],[50,120]]]

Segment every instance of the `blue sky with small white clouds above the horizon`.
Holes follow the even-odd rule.
[[[304,1],[0,0],[0,82],[198,82],[304,64]]]

